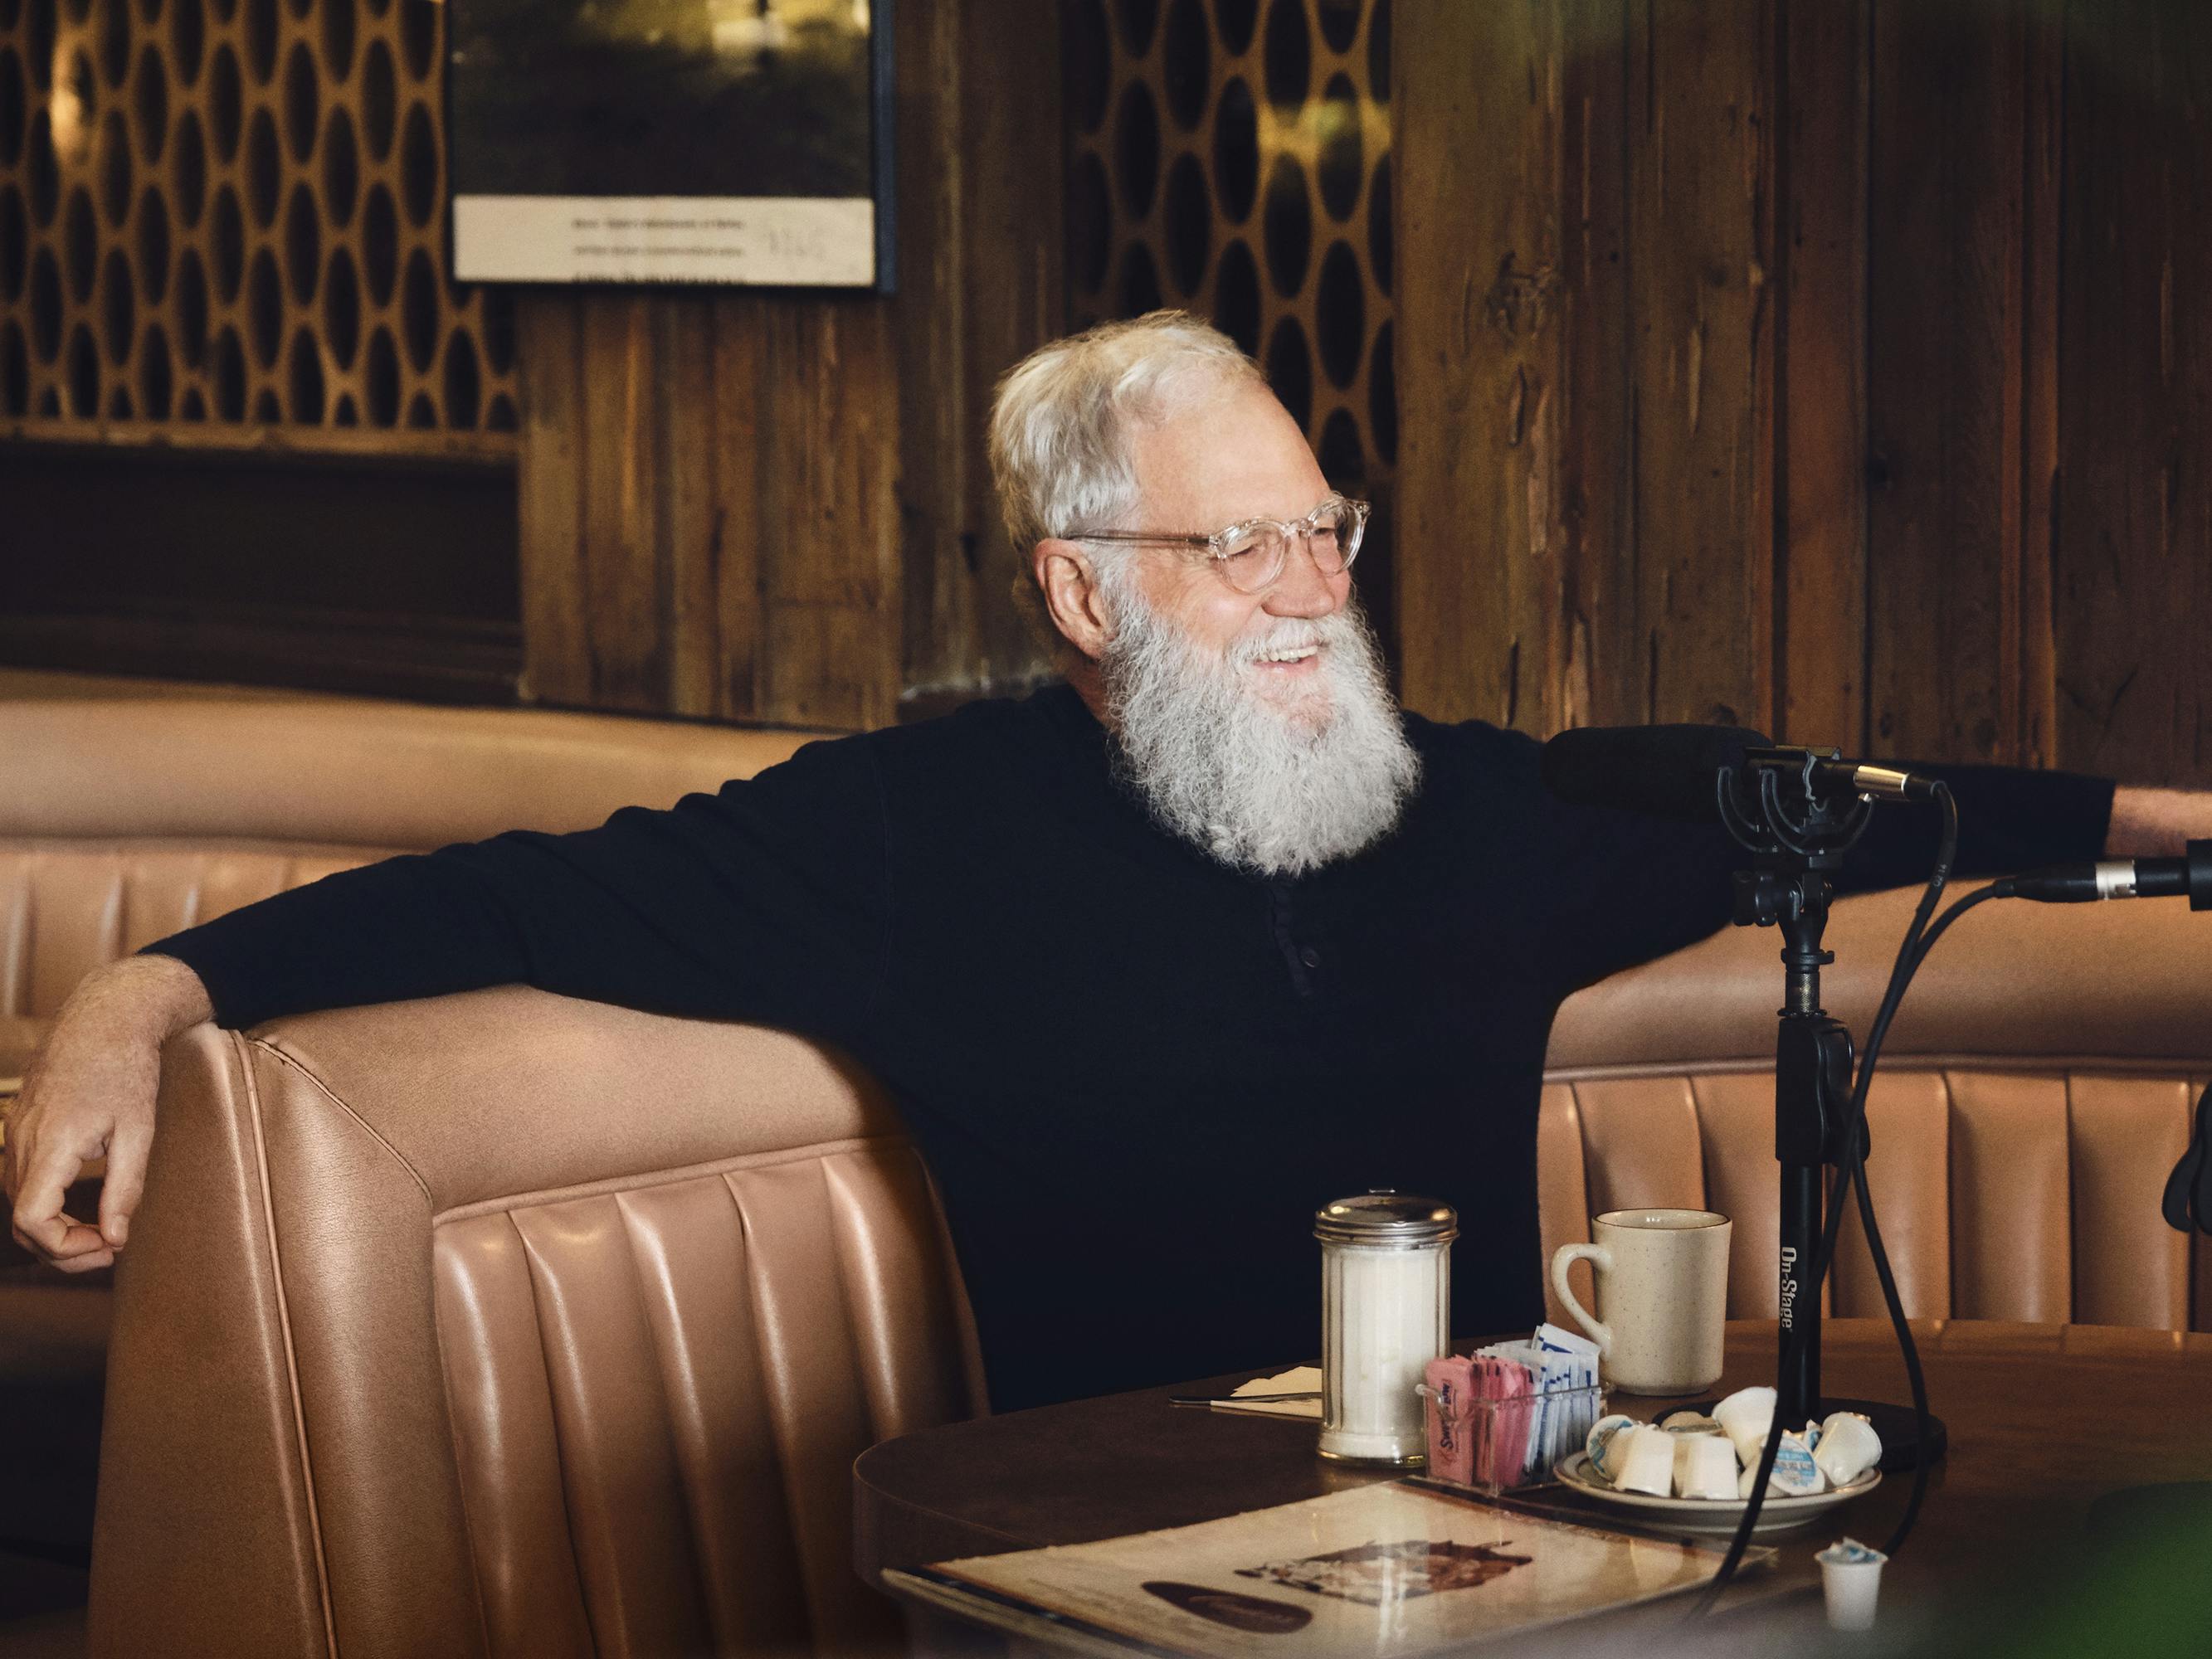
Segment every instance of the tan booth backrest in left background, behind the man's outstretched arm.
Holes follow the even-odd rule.
[[[334,869],[584,830],[807,741],[338,697],[0,699],[0,1075],[93,967]]]

